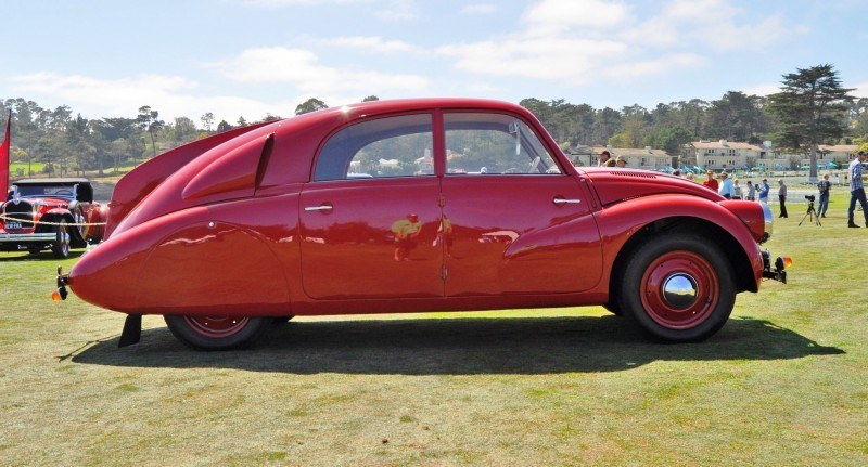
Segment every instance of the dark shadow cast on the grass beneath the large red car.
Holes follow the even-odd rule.
[[[200,352],[165,327],[140,343],[111,337],[68,355],[75,363],[238,368],[288,374],[549,374],[617,372],[655,361],[783,360],[844,353],[755,319],[732,319],[701,343],[649,341],[616,316],[290,322],[251,350]]]

